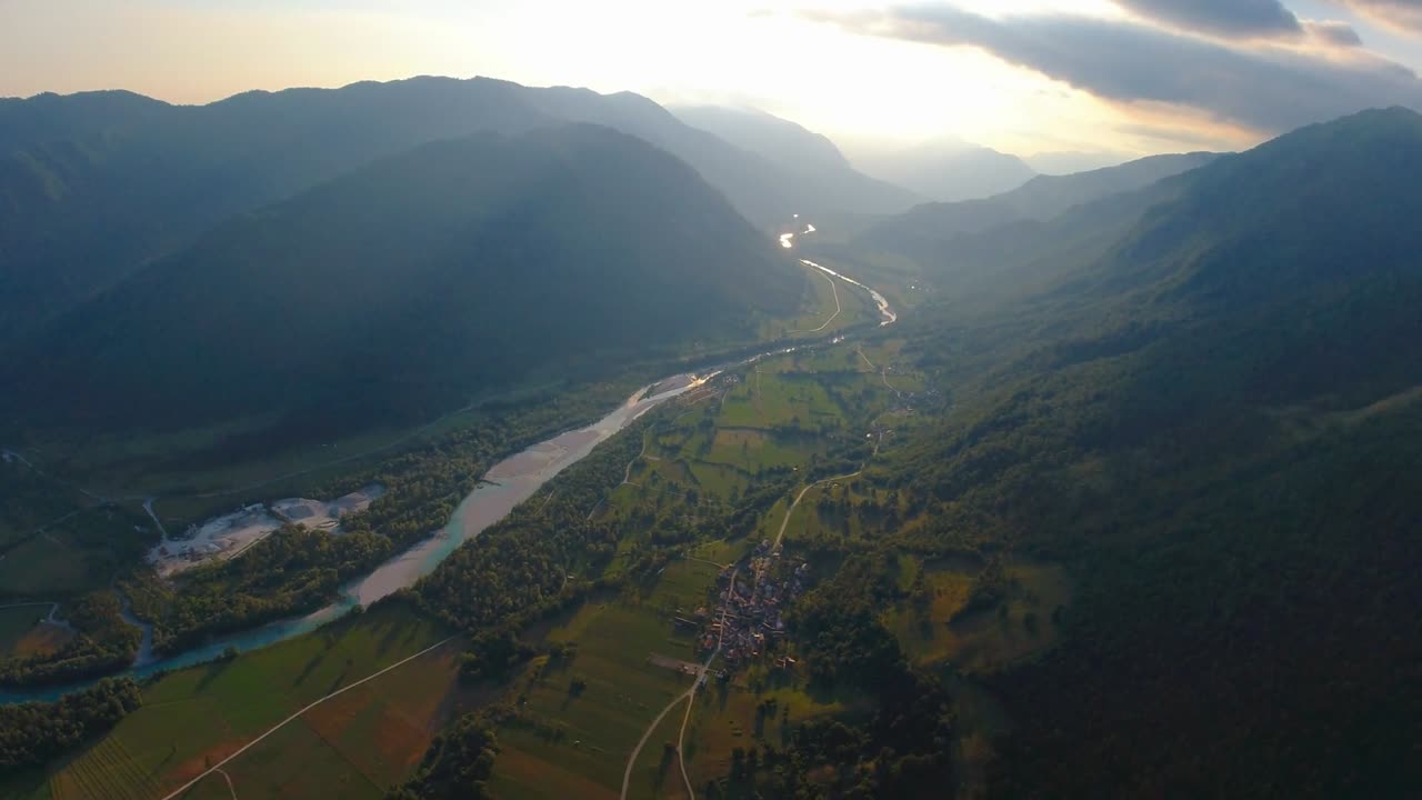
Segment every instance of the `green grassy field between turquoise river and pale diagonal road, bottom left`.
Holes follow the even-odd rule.
[[[74,800],[124,797],[138,783],[176,789],[293,710],[447,635],[442,626],[408,608],[388,605],[230,662],[169,673],[144,689],[142,709],[87,750],[55,766],[50,784],[63,797]],[[449,652],[456,652],[456,648],[458,641],[451,643]],[[391,676],[400,673],[395,670]],[[449,695],[451,680],[452,660],[448,660],[442,682],[425,676],[411,688],[442,699]],[[364,696],[378,698],[378,693]],[[115,766],[117,752],[127,757],[122,769]],[[247,754],[264,752],[273,752],[270,740],[245,753],[232,767],[240,769]],[[368,756],[360,749],[354,752],[360,757]],[[293,750],[290,756],[300,764],[300,752]],[[6,789],[0,784],[0,794]]]

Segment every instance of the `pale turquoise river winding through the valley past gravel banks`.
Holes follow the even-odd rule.
[[[884,300],[879,292],[875,292],[869,286],[818,263],[808,260],[803,263],[869,292],[875,302],[879,303],[879,312],[883,315],[883,322],[880,325],[890,325],[899,319],[897,315],[893,313],[893,309],[889,307],[887,300]],[[843,336],[838,336],[830,343],[842,340]],[[799,346],[766,350],[749,359],[735,362],[725,369],[735,369],[738,366],[758,362],[766,356],[792,353],[798,349]],[[479,535],[499,520],[503,520],[518,504],[533,497],[533,494],[536,494],[543,484],[553,480],[553,477],[565,468],[584,458],[593,451],[594,447],[624,430],[647,411],[704,384],[721,372],[722,370],[711,370],[701,376],[677,374],[660,380],[638,390],[621,406],[613,409],[611,413],[596,423],[583,428],[562,433],[553,438],[540,441],[516,456],[510,456],[509,458],[499,461],[488,473],[485,473],[483,481],[481,481],[479,485],[459,502],[459,507],[455,508],[454,515],[442,530],[380,565],[370,575],[343,586],[340,599],[320,611],[304,616],[282,619],[260,628],[243,631],[240,633],[222,636],[213,639],[208,645],[185,651],[175,656],[154,658],[151,651],[152,632],[149,626],[142,625],[132,618],[125,599],[124,618],[125,621],[144,628],[144,648],[135,665],[122,675],[146,678],[156,672],[181,669],[213,660],[228,648],[250,651],[273,645],[283,639],[309,633],[327,622],[338,619],[357,604],[371,605],[373,602],[388,596],[404,586],[414,585],[419,578],[434,572],[435,567],[454,552],[455,548]],[[55,686],[31,692],[0,692],[0,705],[24,700],[50,700],[67,692],[84,689],[91,683],[92,680],[84,680],[68,686]]]

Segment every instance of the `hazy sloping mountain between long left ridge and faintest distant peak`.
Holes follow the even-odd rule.
[[[839,211],[856,214],[902,214],[920,198],[884,181],[870,178],[845,158],[835,142],[754,108],[720,105],[678,107],[673,112],[685,124],[715,134],[732,145],[754,152],[792,175],[802,189]]]

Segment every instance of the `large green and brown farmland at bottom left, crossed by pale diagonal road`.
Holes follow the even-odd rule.
[[[144,707],[101,740],[55,764],[44,780],[30,776],[27,783],[0,784],[0,796],[161,796],[294,710],[447,636],[438,623],[391,604],[229,662],[169,673],[146,685]],[[319,784],[307,780],[326,787],[374,786],[371,796],[381,796],[405,777],[429,737],[461,707],[459,648],[455,639],[330,700],[330,707],[317,706],[235,759],[225,770],[239,796],[331,796],[311,794]],[[385,733],[401,740],[391,742]],[[209,776],[185,797],[212,796],[209,781],[220,783],[222,776]]]

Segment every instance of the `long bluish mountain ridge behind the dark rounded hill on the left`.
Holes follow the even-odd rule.
[[[671,152],[758,225],[859,209],[627,93],[425,77],[199,107],[121,91],[0,100],[0,350],[230,215],[431,141],[566,122]]]

